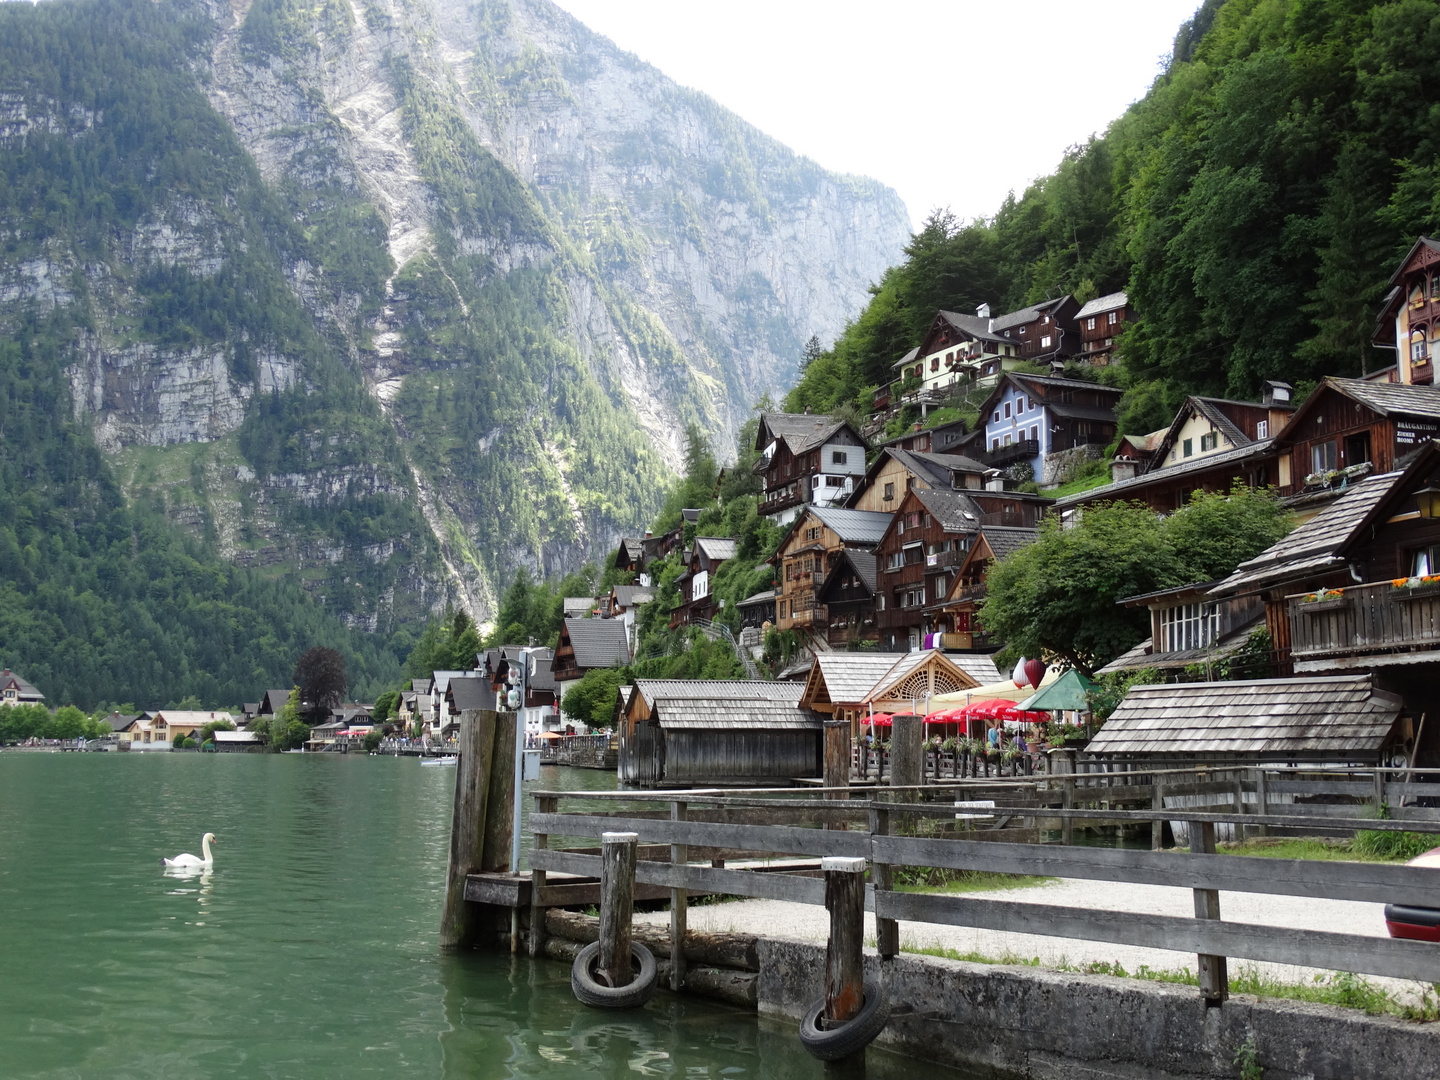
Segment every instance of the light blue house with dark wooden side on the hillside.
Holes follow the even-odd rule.
[[[1099,454],[1115,441],[1120,393],[1100,383],[1007,372],[981,405],[979,459],[996,469],[1028,464],[1031,480],[1058,484],[1074,451]]]

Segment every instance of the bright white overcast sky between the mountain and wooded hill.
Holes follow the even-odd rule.
[[[1198,0],[556,0],[919,225],[989,216],[1143,96]]]

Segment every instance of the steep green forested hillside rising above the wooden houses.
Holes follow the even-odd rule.
[[[936,308],[1126,289],[1123,431],[1185,393],[1394,363],[1395,262],[1440,228],[1440,3],[1205,0],[1149,94],[994,216],[932,216],[789,408],[870,405]],[[1057,99],[1057,108],[1063,101]]]

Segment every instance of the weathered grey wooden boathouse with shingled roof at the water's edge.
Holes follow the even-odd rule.
[[[619,780],[641,788],[819,776],[822,717],[798,683],[636,680],[621,693]]]

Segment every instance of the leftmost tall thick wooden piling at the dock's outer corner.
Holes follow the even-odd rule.
[[[467,708],[459,714],[459,760],[455,765],[455,804],[451,812],[449,865],[445,873],[445,910],[441,914],[441,948],[472,945],[477,913],[465,900],[467,876],[484,870],[485,815],[490,805],[491,766],[495,749],[495,713]]]

